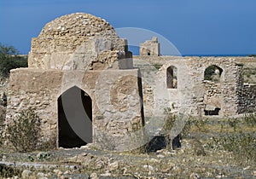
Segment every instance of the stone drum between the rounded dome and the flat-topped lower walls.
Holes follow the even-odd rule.
[[[125,39],[92,38],[76,43],[77,38],[46,39],[32,38],[28,66],[42,69],[102,70],[118,68],[121,54],[125,51]],[[46,47],[44,47],[46,45]],[[125,56],[124,56],[125,57]]]

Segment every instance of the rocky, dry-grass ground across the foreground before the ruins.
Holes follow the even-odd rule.
[[[256,177],[254,117],[252,120],[192,119],[183,131],[182,147],[176,150],[164,148],[152,153],[118,153],[97,150],[92,145],[34,153],[3,150],[1,175],[5,178],[42,179],[253,178]],[[242,136],[245,131],[250,139],[226,137]],[[221,138],[224,140],[217,140]],[[239,142],[232,141],[230,148],[224,148],[224,141],[229,139]],[[242,147],[241,152],[236,152],[239,147]],[[252,153],[247,153],[248,150]]]

